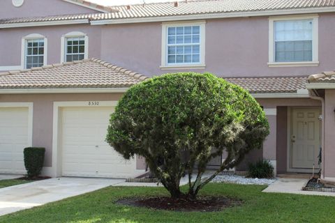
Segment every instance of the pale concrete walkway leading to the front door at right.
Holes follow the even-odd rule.
[[[276,182],[272,183],[263,192],[273,193],[288,193],[288,194],[305,194],[305,195],[319,195],[319,196],[332,196],[335,197],[334,192],[315,192],[301,190],[306,186],[308,179],[297,178],[278,178]]]

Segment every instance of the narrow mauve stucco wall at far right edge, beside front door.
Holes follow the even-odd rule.
[[[335,178],[335,89],[325,91],[325,148],[323,148],[325,177]]]

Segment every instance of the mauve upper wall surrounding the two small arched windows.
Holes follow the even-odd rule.
[[[0,29],[0,71],[1,66],[21,66],[22,37],[38,33],[47,38],[47,63],[60,63],[61,36],[80,31],[89,37],[89,58],[101,56],[101,27],[82,25],[40,26],[29,28]],[[23,66],[23,65],[22,65]]]

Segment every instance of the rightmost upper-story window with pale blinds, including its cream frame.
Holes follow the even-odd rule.
[[[276,17],[269,24],[269,66],[318,66],[318,17]]]

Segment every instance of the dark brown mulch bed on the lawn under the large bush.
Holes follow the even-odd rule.
[[[241,200],[228,197],[199,197],[197,200],[171,199],[170,197],[128,198],[116,203],[158,210],[214,212],[241,205]]]

